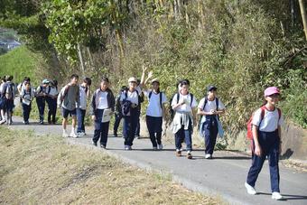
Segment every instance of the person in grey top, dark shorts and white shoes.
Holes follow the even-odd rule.
[[[63,127],[63,137],[78,137],[76,134],[76,124],[77,124],[77,107],[79,106],[79,76],[76,74],[71,75],[70,83],[64,86],[60,90],[58,96],[58,107],[61,107],[61,113],[63,116],[62,127]],[[68,123],[68,117],[71,116],[72,125],[70,135],[67,133],[66,127]]]

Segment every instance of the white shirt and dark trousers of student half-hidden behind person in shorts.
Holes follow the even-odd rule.
[[[85,134],[84,118],[87,111],[88,88],[79,85],[79,107],[77,107],[78,127],[77,133]]]

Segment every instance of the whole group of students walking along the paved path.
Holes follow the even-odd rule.
[[[116,122],[114,134],[117,135],[117,128],[120,120],[123,118],[123,137],[124,149],[132,150],[135,130],[139,124],[141,113],[141,103],[144,98],[148,100],[146,107],[146,126],[150,136],[153,150],[162,150],[163,118],[165,116],[165,104],[168,99],[160,89],[159,79],[152,79],[153,73],[149,72],[145,79],[146,68],[143,69],[142,78],[131,77],[128,79],[128,85],[120,89],[115,98],[111,89],[109,89],[109,79],[101,78],[100,86],[94,91],[90,98],[90,111],[94,122],[94,135],[92,143],[100,144],[103,149],[107,148],[107,135],[110,124],[110,116],[115,114]],[[146,84],[151,79],[151,89],[147,89]],[[58,92],[55,80],[51,83],[48,79],[42,80],[42,85],[36,90],[31,88],[30,79],[24,79],[20,88],[20,96],[23,104],[24,123],[28,124],[31,104],[36,97],[37,106],[40,111],[40,123],[43,124],[43,110],[45,101],[49,107],[48,121],[55,123],[55,113],[57,105],[61,108],[63,116],[62,128],[63,136],[78,137],[85,134],[84,117],[87,110],[87,99],[90,96],[91,79],[85,78],[78,84],[79,76],[72,75],[70,83],[60,89]],[[12,112],[14,107],[14,93],[11,91],[12,78],[3,79],[0,86],[0,108],[2,123],[5,120],[4,113],[7,113],[9,124],[12,123]],[[207,87],[207,93],[204,98],[197,102],[197,98],[190,92],[190,81],[182,79],[177,85],[178,92],[173,95],[171,108],[173,111],[172,133],[175,139],[175,154],[182,155],[182,143],[186,144],[186,157],[192,159],[192,132],[195,125],[195,116],[200,115],[200,135],[205,140],[205,158],[212,159],[214,147],[217,141],[218,133],[221,131],[219,116],[225,113],[225,106],[217,98],[218,88],[210,85]],[[278,157],[281,152],[281,125],[283,116],[276,104],[279,100],[280,91],[275,87],[265,89],[264,106],[256,110],[253,116],[253,156],[252,166],[247,175],[245,186],[247,193],[256,194],[255,184],[257,176],[262,169],[265,157],[268,157],[272,198],[274,200],[283,199],[279,191],[279,169]],[[13,100],[12,100],[13,99]],[[10,114],[9,114],[10,113]],[[70,135],[67,132],[68,117],[72,118],[72,128]],[[78,122],[78,129],[76,130]],[[136,132],[137,133],[137,132]]]

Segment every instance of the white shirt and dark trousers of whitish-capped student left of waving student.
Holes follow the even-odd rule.
[[[129,106],[129,112],[124,115],[124,128],[123,136],[125,138],[125,148],[131,149],[135,139],[135,129],[137,122],[139,120],[139,106],[140,106],[140,96],[137,90],[130,92],[129,90],[122,93],[120,97],[120,102],[122,103],[122,108],[125,108],[124,103],[127,103]],[[131,107],[131,104],[134,103],[137,107]]]

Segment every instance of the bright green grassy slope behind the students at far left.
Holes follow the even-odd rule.
[[[13,75],[14,82],[21,82],[25,76],[30,77],[35,85],[41,81],[37,74],[43,71],[45,63],[42,55],[20,46],[0,56],[0,76]]]

